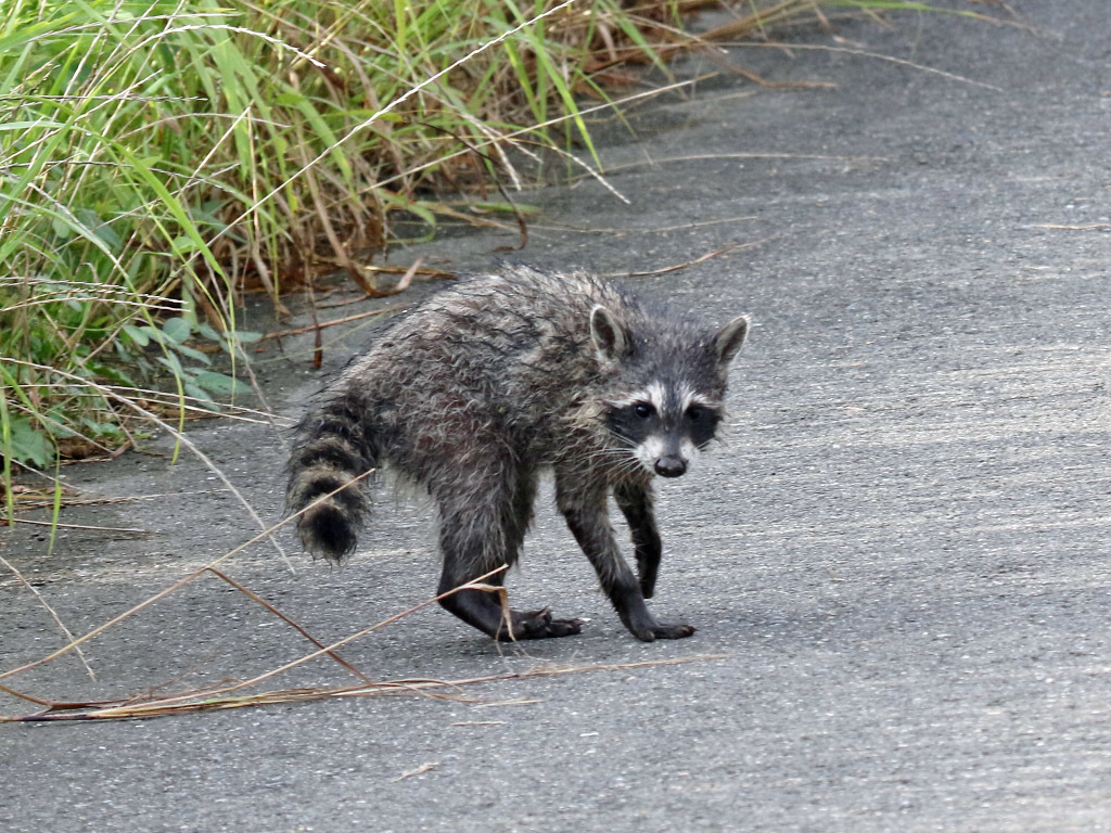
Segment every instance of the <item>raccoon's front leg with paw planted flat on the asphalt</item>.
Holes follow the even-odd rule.
[[[573,485],[569,485],[573,484]],[[678,640],[694,629],[687,624],[657,622],[644,603],[640,582],[621,556],[605,508],[605,486],[575,483],[572,476],[556,475],[556,502],[579,546],[594,565],[602,590],[610,598],[621,622],[644,642]]]

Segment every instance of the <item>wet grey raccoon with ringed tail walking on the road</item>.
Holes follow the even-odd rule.
[[[516,562],[550,469],[557,506],[625,628],[645,642],[690,636],[644,603],[661,556],[652,478],[683,474],[713,439],[747,332],[743,317],[717,330],[672,320],[581,273],[512,265],[467,280],[394,322],[326,392],[299,431],[288,511],[303,510],[309,552],[341,562],[369,510],[353,481],[392,470],[438,505],[442,594]],[[610,524],[611,494],[635,574]],[[504,614],[478,589],[440,604],[496,640],[582,625],[547,609]]]

